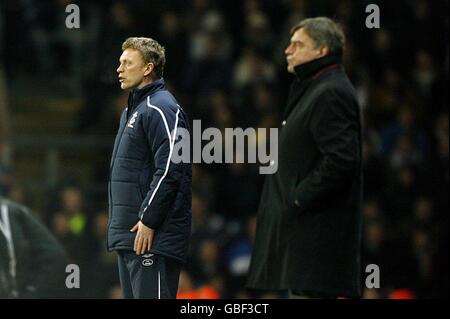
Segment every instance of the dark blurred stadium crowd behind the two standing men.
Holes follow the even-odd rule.
[[[81,298],[117,298],[105,251],[106,185],[120,46],[166,47],[165,80],[202,127],[278,127],[291,77],[283,51],[302,18],[343,23],[346,70],[364,113],[364,298],[448,296],[448,1],[0,2],[0,194],[31,207],[81,268]],[[381,28],[367,29],[378,4]],[[284,297],[244,286],[263,176],[256,165],[193,167],[193,234],[180,297]],[[364,269],[363,274],[364,274]]]

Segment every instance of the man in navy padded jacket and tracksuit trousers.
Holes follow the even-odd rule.
[[[128,38],[117,69],[132,89],[120,119],[109,180],[108,249],[119,256],[125,298],[175,298],[191,228],[191,165],[173,150],[189,120],[162,78],[164,48]]]

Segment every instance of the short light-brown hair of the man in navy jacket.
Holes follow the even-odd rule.
[[[138,50],[145,63],[153,63],[155,74],[161,78],[166,64],[166,50],[152,38],[132,37],[122,44],[122,51],[126,49]]]

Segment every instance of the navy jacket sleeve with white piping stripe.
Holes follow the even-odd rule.
[[[182,175],[182,163],[171,161],[175,137],[184,122],[180,109],[149,105],[146,135],[152,150],[155,171],[150,189],[141,205],[139,218],[152,229],[158,229],[173,206]]]

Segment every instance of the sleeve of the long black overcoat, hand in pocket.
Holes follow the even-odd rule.
[[[319,97],[309,125],[319,159],[294,190],[293,204],[301,212],[323,205],[328,195],[349,187],[361,160],[359,127],[358,104],[349,93],[329,90]]]

